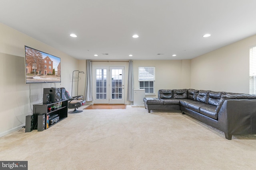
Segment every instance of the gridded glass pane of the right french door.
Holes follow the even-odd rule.
[[[122,99],[122,69],[112,69],[112,99]]]

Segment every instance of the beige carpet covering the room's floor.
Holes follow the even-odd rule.
[[[83,110],[42,132],[1,137],[0,160],[27,160],[29,170],[248,170],[256,136],[226,140],[179,111]]]

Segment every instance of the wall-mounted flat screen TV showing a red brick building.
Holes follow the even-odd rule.
[[[26,83],[59,83],[60,58],[25,46]]]

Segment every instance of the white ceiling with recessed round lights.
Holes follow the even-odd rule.
[[[180,60],[255,35],[255,6],[256,0],[1,0],[0,22],[76,59]]]

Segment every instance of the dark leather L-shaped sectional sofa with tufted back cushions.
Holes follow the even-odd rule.
[[[181,110],[203,123],[234,134],[256,134],[256,95],[210,90],[159,90],[158,98],[144,98],[150,110]]]

